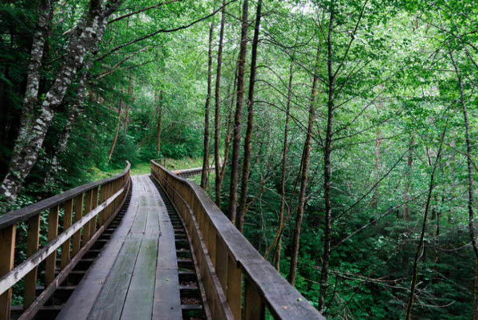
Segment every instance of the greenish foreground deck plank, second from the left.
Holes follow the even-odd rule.
[[[140,238],[127,238],[124,241],[98,300],[88,317],[89,320],[119,319],[140,244]]]

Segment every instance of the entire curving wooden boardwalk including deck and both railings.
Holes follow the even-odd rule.
[[[325,320],[183,173],[129,169],[0,216],[0,320]],[[17,229],[27,257],[14,266]]]

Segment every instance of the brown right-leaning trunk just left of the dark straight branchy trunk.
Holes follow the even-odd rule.
[[[319,82],[318,76],[318,64],[319,64],[319,54],[320,54],[320,45],[317,48],[317,56],[315,61],[314,68],[314,79],[312,80],[312,92],[310,95],[310,105],[309,105],[309,121],[307,124],[307,136],[304,142],[304,149],[302,151],[302,172],[300,180],[300,191],[299,191],[299,204],[297,208],[297,216],[295,218],[295,228],[294,236],[292,238],[292,252],[290,257],[290,268],[288,280],[291,285],[295,284],[296,273],[297,273],[297,257],[299,254],[299,240],[300,240],[300,227],[302,225],[302,218],[304,216],[304,205],[305,205],[305,192],[307,189],[307,177],[309,171],[309,159],[310,159],[310,143],[312,140],[312,134],[314,130],[315,123],[315,104],[317,100],[317,85]]]

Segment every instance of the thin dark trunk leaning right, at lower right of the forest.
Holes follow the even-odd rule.
[[[443,130],[442,136],[441,136],[441,141],[440,141],[440,148],[438,149],[438,154],[437,154],[437,159],[435,160],[435,164],[433,165],[433,170],[432,174],[430,176],[430,184],[428,187],[428,197],[427,197],[427,203],[425,206],[425,214],[423,215],[423,223],[422,223],[422,232],[420,234],[420,239],[418,241],[418,246],[417,250],[415,251],[415,258],[413,260],[413,275],[412,275],[412,284],[410,286],[410,293],[408,295],[408,303],[407,303],[407,311],[405,314],[405,320],[410,320],[410,317],[412,315],[412,306],[413,306],[413,300],[414,300],[414,295],[415,295],[415,287],[417,284],[417,277],[418,277],[418,261],[420,260],[420,255],[422,252],[422,247],[423,247],[423,238],[425,237],[425,232],[426,232],[426,227],[427,227],[427,220],[428,220],[428,212],[430,209],[430,200],[432,198],[432,192],[434,188],[434,177],[435,177],[435,171],[437,169],[437,164],[440,161],[440,155],[442,153],[442,147],[443,147],[443,140],[445,139],[445,133],[446,133],[446,127]]]

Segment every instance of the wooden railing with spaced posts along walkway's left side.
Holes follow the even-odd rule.
[[[126,168],[118,175],[70,189],[0,216],[0,320],[10,319],[12,286],[22,278],[21,320],[32,319],[55,289],[67,279],[70,271],[108,227],[124,203],[130,188],[129,167],[126,161]],[[41,217],[46,214],[48,234],[41,236],[46,236],[47,244],[40,248]],[[60,234],[59,218],[63,220]],[[16,260],[20,258],[21,261],[13,267],[15,239],[26,241],[26,256],[23,259],[17,256]],[[17,243],[16,251],[22,244]],[[59,270],[56,270],[57,254],[61,254]],[[45,289],[35,298],[37,269],[44,260]]]

